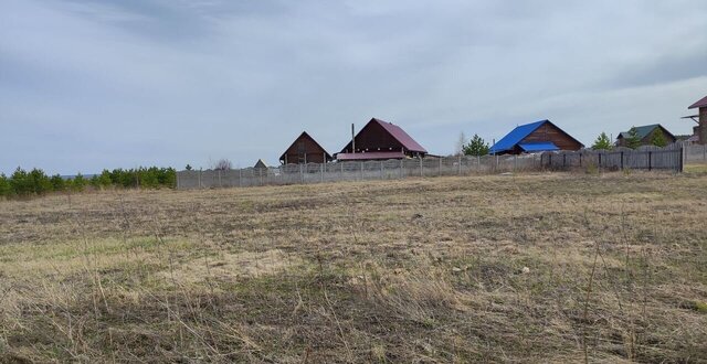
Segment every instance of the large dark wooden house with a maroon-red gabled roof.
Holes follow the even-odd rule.
[[[428,150],[418,143],[399,126],[372,118],[349,141],[336,159],[351,160],[387,160],[412,157],[424,157]]]

